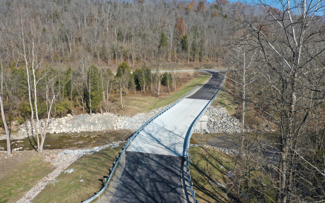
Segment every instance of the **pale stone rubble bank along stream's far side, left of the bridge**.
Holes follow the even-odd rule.
[[[106,131],[130,129],[137,130],[151,117],[162,111],[168,105],[160,108],[150,110],[148,113],[138,113],[133,117],[130,116],[118,116],[113,113],[93,113],[80,114],[72,116],[68,114],[63,118],[50,119],[46,133],[80,133],[80,132],[94,132],[94,131]],[[40,120],[42,128],[45,126],[46,120]],[[24,139],[26,137],[35,135],[35,128],[32,127],[30,121],[18,126],[18,133],[12,134],[11,139]],[[38,122],[35,121],[35,126],[39,132]],[[0,135],[0,140],[6,139],[6,135]]]

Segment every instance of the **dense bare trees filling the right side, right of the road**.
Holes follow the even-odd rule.
[[[325,201],[324,1],[228,4],[224,59],[242,126],[233,194],[242,202]]]

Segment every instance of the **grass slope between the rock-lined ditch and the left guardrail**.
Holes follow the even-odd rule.
[[[87,154],[61,172],[55,182],[48,184],[33,200],[33,203],[80,203],[95,195],[103,186],[103,175],[109,174],[122,145],[107,147]]]

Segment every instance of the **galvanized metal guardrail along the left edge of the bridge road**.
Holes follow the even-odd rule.
[[[88,203],[91,202],[92,200],[96,199],[107,187],[108,183],[110,182],[110,179],[116,169],[117,164],[119,163],[122,154],[124,153],[124,151],[126,150],[127,146],[129,146],[131,144],[131,142],[134,140],[134,138],[136,137],[137,134],[140,133],[140,131],[142,131],[142,129],[144,127],[146,127],[146,125],[148,125],[151,121],[153,121],[155,118],[157,118],[158,116],[160,116],[162,113],[164,113],[165,111],[167,111],[168,109],[172,108],[173,106],[175,106],[178,102],[180,102],[182,99],[184,99],[187,95],[189,95],[191,92],[193,92],[193,90],[195,90],[196,88],[198,88],[198,86],[196,86],[194,89],[192,89],[190,92],[188,92],[186,95],[184,95],[182,98],[178,99],[175,103],[173,103],[172,105],[164,108],[162,111],[160,111],[159,113],[157,113],[156,115],[154,115],[151,119],[149,119],[147,122],[145,122],[145,124],[143,124],[134,134],[131,138],[128,139],[128,141],[126,142],[126,144],[123,147],[123,150],[121,150],[120,155],[118,156],[117,161],[114,162],[114,167],[111,168],[110,170],[110,176],[107,178],[106,180],[106,184],[104,185],[104,187],[93,197],[90,197],[89,199],[83,201],[83,203]]]

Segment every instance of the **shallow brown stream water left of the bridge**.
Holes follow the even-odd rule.
[[[107,145],[116,141],[124,141],[132,136],[135,131],[119,130],[113,132],[81,132],[81,133],[53,133],[46,134],[43,149],[62,149],[67,147],[86,147]],[[40,142],[41,136],[39,135]],[[12,140],[11,148],[20,148],[19,150],[37,149],[37,138],[27,137],[23,140]],[[0,140],[0,150],[6,150],[6,140]]]

